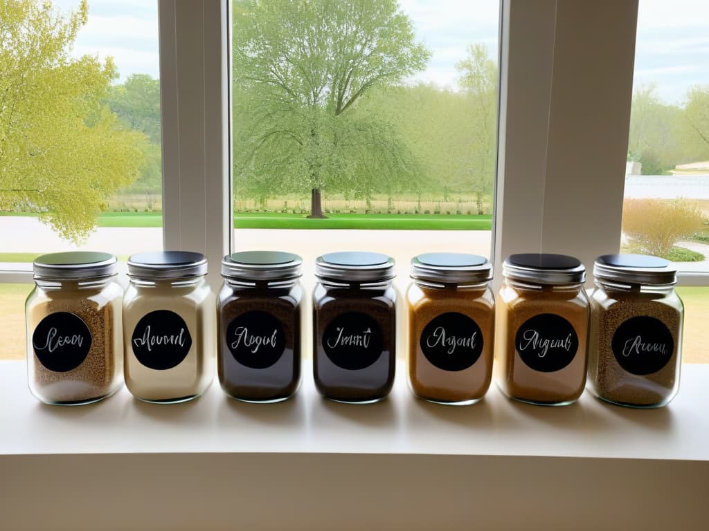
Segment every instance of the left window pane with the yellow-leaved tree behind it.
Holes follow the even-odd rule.
[[[10,2],[0,24],[0,269],[162,248],[157,2]]]

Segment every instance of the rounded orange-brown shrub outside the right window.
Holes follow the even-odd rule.
[[[627,199],[623,203],[623,232],[632,250],[667,255],[683,237],[701,229],[703,217],[683,199]]]

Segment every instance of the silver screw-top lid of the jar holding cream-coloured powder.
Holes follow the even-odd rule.
[[[207,258],[189,251],[138,253],[128,258],[128,275],[143,280],[174,280],[207,274]]]

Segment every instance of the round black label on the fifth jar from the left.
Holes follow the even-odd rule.
[[[459,371],[473,365],[483,351],[483,333],[469,316],[447,312],[431,319],[421,332],[421,352],[442,370]]]

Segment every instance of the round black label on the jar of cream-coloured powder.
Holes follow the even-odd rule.
[[[192,336],[181,316],[170,310],[145,314],[130,338],[138,361],[155,370],[177,367],[192,347]]]

